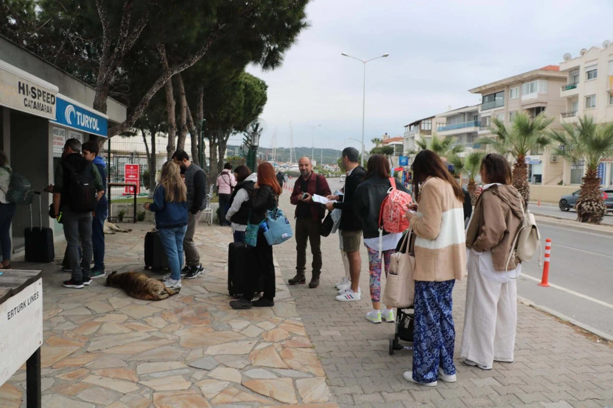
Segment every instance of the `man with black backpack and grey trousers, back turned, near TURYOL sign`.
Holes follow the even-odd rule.
[[[62,213],[61,223],[64,225],[67,254],[72,269],[70,280],[64,281],[63,286],[82,289],[91,283],[90,267],[93,248],[91,243],[91,212],[96,204],[86,202],[89,195],[85,191],[75,191],[73,180],[77,177],[93,182],[99,201],[104,195],[102,179],[96,166],[81,155],[81,142],[78,139],[68,139],[64,144],[63,159],[55,169],[53,185],[53,217],[58,218]],[[82,184],[91,185],[91,184]],[[91,191],[91,190],[89,190]],[[81,207],[90,207],[82,210]],[[83,258],[79,261],[79,239],[83,248]]]

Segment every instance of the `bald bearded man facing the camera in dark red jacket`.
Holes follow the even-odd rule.
[[[311,244],[313,253],[313,275],[308,287],[313,289],[319,286],[319,275],[321,274],[321,220],[326,215],[326,209],[320,204],[313,202],[311,197],[314,194],[320,196],[330,195],[330,187],[326,177],[315,174],[311,159],[301,157],[298,161],[300,177],[294,183],[294,190],[289,201],[296,206],[296,276],[289,280],[289,284],[307,283],[305,269],[307,267],[307,240]]]

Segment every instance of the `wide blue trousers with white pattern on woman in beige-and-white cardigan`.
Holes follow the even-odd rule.
[[[413,379],[435,382],[438,368],[455,374],[454,318],[451,292],[455,280],[415,281],[415,332],[413,335]]]

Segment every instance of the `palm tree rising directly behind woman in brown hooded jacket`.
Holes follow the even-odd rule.
[[[530,185],[528,185],[528,165],[526,156],[530,150],[545,147],[550,143],[546,131],[554,121],[554,118],[545,116],[544,113],[530,117],[526,111],[517,112],[509,127],[498,119],[492,119],[493,127],[490,132],[495,139],[481,138],[478,143],[490,144],[493,149],[502,155],[511,154],[515,158],[513,163],[513,185],[524,198],[524,207],[528,207],[530,201]]]

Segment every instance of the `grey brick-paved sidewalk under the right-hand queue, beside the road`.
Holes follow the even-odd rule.
[[[282,202],[286,213],[292,214],[287,196]],[[294,245],[275,248],[286,281],[295,273]],[[344,275],[336,234],[322,238],[322,252],[320,286],[290,286],[290,292],[341,407],[613,406],[613,348],[522,304],[514,363],[495,363],[491,371],[460,363],[465,282],[457,283],[454,290],[457,382],[439,381],[435,388],[407,382],[402,374],[411,367],[411,352],[388,353],[394,325],[375,325],[364,317],[371,308],[366,251],[363,248],[361,302],[333,299],[333,284]]]

